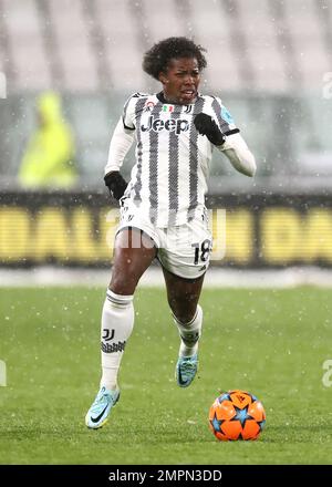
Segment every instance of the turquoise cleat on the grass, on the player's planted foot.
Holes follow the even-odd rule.
[[[120,391],[108,391],[101,387],[92,406],[85,416],[85,424],[89,428],[97,429],[108,421],[111,408],[117,403]]]

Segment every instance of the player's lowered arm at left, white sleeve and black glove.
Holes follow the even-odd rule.
[[[134,129],[125,128],[123,117],[120,118],[113,133],[108,159],[105,166],[104,182],[115,199],[120,199],[127,187],[127,183],[120,173],[124,158],[134,141]]]

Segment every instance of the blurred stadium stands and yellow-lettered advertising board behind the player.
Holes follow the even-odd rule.
[[[201,92],[222,99],[257,157],[255,179],[212,159],[208,205],[229,210],[221,265],[331,266],[331,32],[332,0],[0,0],[2,266],[107,265],[110,137],[131,93],[159,89],[142,58],[170,35],[207,49]],[[19,167],[50,89],[80,178],[68,191],[24,190]],[[132,164],[133,152],[126,177]]]

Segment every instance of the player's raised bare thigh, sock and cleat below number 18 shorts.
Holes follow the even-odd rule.
[[[198,341],[201,334],[203,310],[198,304],[204,276],[184,279],[163,268],[168,303],[180,335],[176,379],[181,387],[194,380],[198,367]]]

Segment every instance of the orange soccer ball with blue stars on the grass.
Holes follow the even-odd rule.
[[[266,423],[266,412],[255,395],[245,391],[228,391],[216,398],[209,412],[214,435],[228,439],[257,439]]]

